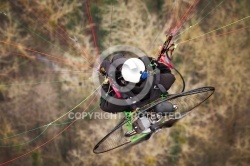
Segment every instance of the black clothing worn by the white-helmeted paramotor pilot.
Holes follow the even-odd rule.
[[[119,55],[121,58],[121,55]],[[117,57],[114,57],[117,58]],[[122,57],[124,58],[124,57]],[[151,65],[151,69],[147,69],[148,72],[154,73],[149,76],[150,78],[153,78],[152,84],[150,84],[150,81],[141,81],[134,85],[133,89],[129,91],[128,93],[121,93],[122,99],[127,99],[127,104],[124,105],[116,105],[114,102],[112,102],[112,98],[116,98],[116,94],[114,90],[112,90],[112,86],[110,83],[104,84],[102,86],[102,97],[100,102],[100,108],[105,112],[123,112],[124,110],[130,111],[137,107],[142,107],[143,105],[150,103],[156,99],[158,99],[161,94],[166,93],[166,91],[171,87],[171,85],[175,81],[175,77],[173,74],[171,74],[170,69],[164,65],[163,63],[155,61],[151,57],[140,57],[140,59],[144,62],[146,68],[147,66]],[[148,59],[148,60],[145,60]],[[112,60],[113,61],[113,60]],[[124,59],[122,60],[124,62]],[[112,66],[112,63],[107,65],[107,61],[105,62],[106,66]],[[102,65],[101,65],[102,66]],[[122,65],[116,65],[116,67],[121,67]],[[107,71],[109,70],[106,69]],[[150,71],[151,70],[151,71]],[[110,74],[113,79],[121,86],[121,89],[125,88],[124,82],[122,83],[122,79],[119,79],[121,77],[120,71],[115,71],[115,74]],[[149,77],[147,79],[149,79]],[[124,81],[124,80],[123,80]],[[146,87],[147,93],[143,92],[143,88]],[[105,93],[105,94],[104,94]],[[143,94],[144,93],[144,94]],[[133,103],[130,98],[134,97],[136,95],[142,96],[142,99],[140,101],[137,101],[136,103]],[[109,102],[107,99],[111,99],[111,102]],[[136,99],[136,98],[135,98]]]

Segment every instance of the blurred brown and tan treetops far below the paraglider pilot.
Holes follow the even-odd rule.
[[[249,165],[249,0],[1,0],[0,165]],[[116,119],[102,112],[92,73],[123,44],[157,57],[175,31],[186,90],[214,95],[174,127],[96,155]],[[181,91],[178,76],[171,93]]]

